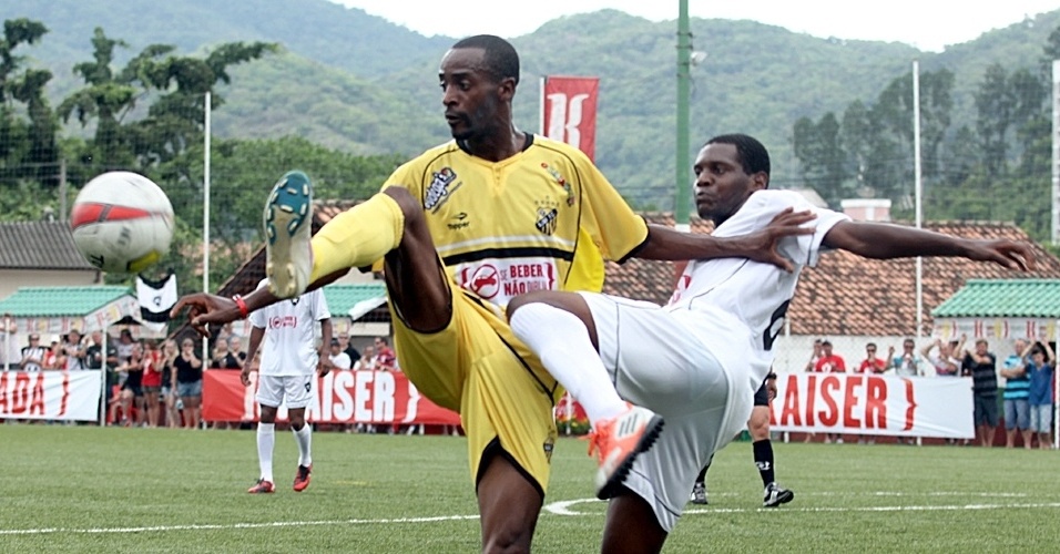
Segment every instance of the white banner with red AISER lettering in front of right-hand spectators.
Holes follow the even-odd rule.
[[[776,380],[774,431],[974,439],[971,378],[791,373]]]

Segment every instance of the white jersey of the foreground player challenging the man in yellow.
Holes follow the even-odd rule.
[[[704,345],[715,346],[711,350],[724,367],[750,367],[755,390],[773,365],[773,341],[784,327],[799,271],[817,265],[825,235],[849,217],[814,207],[798,193],[766,189],[752,194],[713,233],[716,237],[753,233],[768,226],[787,207],[817,215],[805,224],[816,228],[814,234],[786,237],[778,244],[781,254],[795,263],[793,273],[746,258],[695,260],[685,267],[666,306]]]

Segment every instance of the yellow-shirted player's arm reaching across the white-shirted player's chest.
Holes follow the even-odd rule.
[[[648,243],[636,253],[636,257],[661,260],[751,258],[791,271],[792,261],[781,256],[777,243],[784,237],[813,234],[813,226],[803,225],[816,217],[811,212],[786,208],[767,227],[738,237],[681,233],[670,227],[650,225]]]

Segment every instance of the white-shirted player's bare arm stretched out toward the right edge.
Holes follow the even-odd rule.
[[[825,235],[824,245],[876,259],[962,257],[976,261],[993,261],[1021,271],[1034,268],[1034,253],[1026,243],[960,238],[934,230],[881,223],[838,223]]]

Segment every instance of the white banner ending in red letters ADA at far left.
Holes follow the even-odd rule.
[[[100,370],[0,372],[0,419],[96,421]]]

